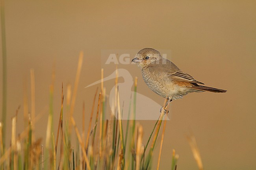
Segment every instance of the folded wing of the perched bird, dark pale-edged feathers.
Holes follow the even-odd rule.
[[[176,81],[184,81],[184,82],[193,82],[198,84],[204,84],[202,82],[199,82],[194,79],[191,75],[181,71],[180,69],[174,71],[173,73],[169,73],[168,76],[170,76],[172,79],[175,79]]]

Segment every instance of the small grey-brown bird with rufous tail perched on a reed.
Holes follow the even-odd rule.
[[[193,92],[210,91],[214,93],[225,93],[226,90],[202,86],[204,84],[197,81],[191,75],[178,68],[170,60],[163,58],[160,52],[153,48],[141,49],[132,59],[141,69],[142,77],[147,86],[156,94],[167,99],[160,112],[169,111],[165,108],[168,103],[182,99],[184,95]]]

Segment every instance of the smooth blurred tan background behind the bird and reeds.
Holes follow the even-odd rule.
[[[88,108],[86,114],[91,111],[96,86],[84,87],[100,79],[103,49],[168,49],[171,60],[183,71],[208,86],[228,92],[193,93],[171,103],[171,121],[167,122],[160,168],[170,169],[167,166],[174,148],[180,156],[178,169],[197,169],[186,139],[186,134],[193,132],[205,169],[256,169],[255,9],[255,1],[239,0],[6,1],[7,141],[10,120],[19,105],[17,133],[24,127],[23,82],[29,91],[30,68],[35,70],[38,114],[49,104],[51,72],[56,63],[57,130],[61,82],[64,88],[68,83],[73,85],[80,50],[85,57],[74,115],[78,123],[83,101]],[[2,60],[0,64],[2,68]],[[128,65],[126,69],[133,77],[138,76],[139,93],[163,103],[146,86],[137,66]],[[2,69],[0,72],[2,75]],[[46,121],[47,114],[36,124],[37,137],[45,136]],[[147,139],[155,121],[139,123]],[[160,143],[155,157],[159,146]]]

